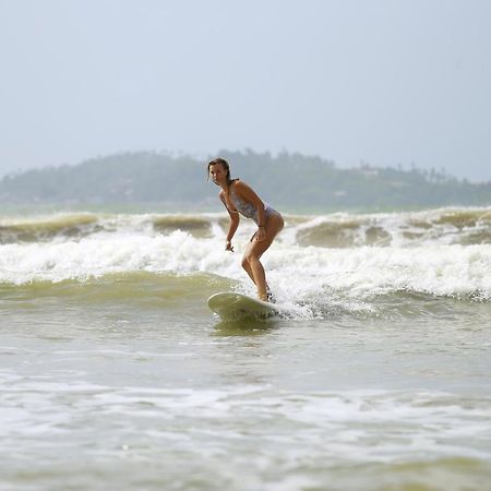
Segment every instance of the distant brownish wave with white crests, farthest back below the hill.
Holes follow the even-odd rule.
[[[286,215],[283,232],[290,243],[332,249],[491,244],[491,207],[424,212],[319,216]],[[73,241],[94,235],[169,235],[180,230],[196,239],[216,237],[228,217],[216,214],[55,214],[0,217],[0,244]]]

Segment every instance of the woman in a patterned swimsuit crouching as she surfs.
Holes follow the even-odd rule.
[[[261,256],[282,231],[284,220],[282,215],[264,203],[261,197],[240,179],[230,178],[230,166],[224,158],[215,158],[208,163],[208,178],[221,188],[219,197],[230,216],[225,250],[233,252],[231,240],[239,226],[240,215],[251,218],[258,225],[258,230],[251,237],[242,256],[242,267],[258,288],[258,297],[263,301],[273,301],[273,295],[266,282]],[[239,215],[240,214],[240,215]]]

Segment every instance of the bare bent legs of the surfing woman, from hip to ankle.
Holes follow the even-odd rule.
[[[267,301],[267,283],[264,267],[261,264],[261,256],[273,243],[273,240],[283,229],[284,221],[282,215],[271,214],[265,223],[266,238],[261,242],[255,240],[255,237],[249,242],[242,258],[242,267],[248,273],[249,277],[258,288],[258,296],[261,300]]]

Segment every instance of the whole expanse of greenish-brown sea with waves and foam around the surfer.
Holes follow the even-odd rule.
[[[1,490],[491,489],[491,208],[0,216]]]

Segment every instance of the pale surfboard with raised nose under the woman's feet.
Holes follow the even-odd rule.
[[[231,291],[212,295],[208,298],[208,307],[223,320],[267,319],[279,313],[273,303]]]

